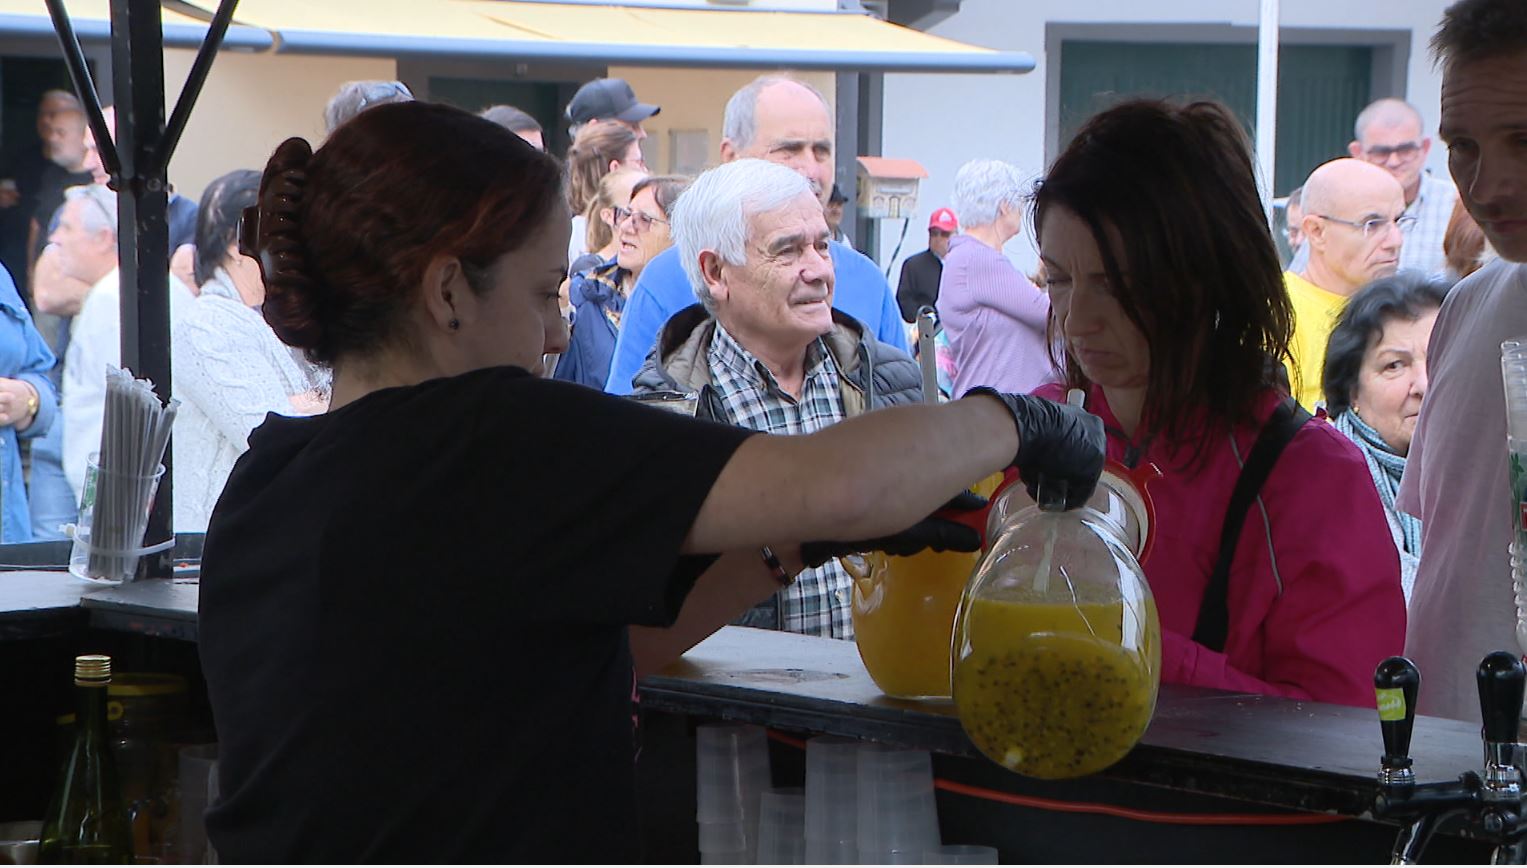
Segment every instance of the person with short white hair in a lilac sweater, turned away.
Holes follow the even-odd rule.
[[[1002,160],[971,160],[954,176],[954,215],[939,277],[939,319],[954,361],[954,397],[977,385],[1026,394],[1051,382],[1049,296],[1002,246],[1023,226],[1023,176]]]

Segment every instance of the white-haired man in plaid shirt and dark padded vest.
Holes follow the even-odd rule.
[[[672,234],[701,304],[663,327],[637,394],[695,394],[696,416],[770,434],[921,397],[912,358],[832,309],[831,231],[800,174],[757,159],[713,168],[678,199]],[[851,579],[828,561],[739,623],[852,639],[851,613]]]

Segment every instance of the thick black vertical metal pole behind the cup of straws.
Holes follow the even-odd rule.
[[[159,0],[111,0],[111,69],[116,84],[116,145],[122,156],[118,191],[118,257],[122,289],[122,367],[154,384],[169,400],[169,225],[165,165],[156,162],[165,136],[165,53]],[[99,141],[99,139],[98,139]],[[174,532],[174,468],[148,515],[145,542]],[[174,575],[171,552],[145,556],[139,578]]]

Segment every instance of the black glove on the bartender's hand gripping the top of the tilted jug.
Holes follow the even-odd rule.
[[[973,394],[989,394],[1012,413],[1012,423],[1019,429],[1019,454],[1012,465],[1019,468],[1034,503],[1041,503],[1040,480],[1044,481],[1046,494],[1052,489],[1064,494],[1066,509],[1087,503],[1102,475],[1107,440],[1101,419],[1080,406],[1031,394],[1003,394],[977,387],[965,393],[965,397]]]

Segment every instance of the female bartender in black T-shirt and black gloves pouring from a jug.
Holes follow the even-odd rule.
[[[266,167],[244,249],[333,397],[253,431],[208,527],[228,862],[629,862],[634,669],[788,584],[782,558],[974,547],[921,520],[1008,465],[1096,481],[1096,419],[1041,399],[771,437],[539,379],[568,339],[560,179],[421,102]]]

